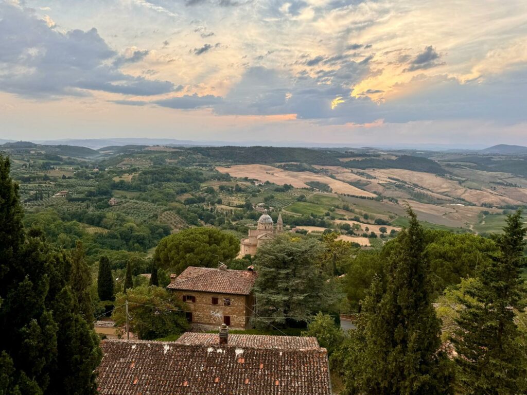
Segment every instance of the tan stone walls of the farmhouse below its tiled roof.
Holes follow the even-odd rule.
[[[212,292],[173,290],[182,300],[183,295],[194,297],[194,302],[187,301],[186,310],[192,312],[192,322],[219,327],[223,317],[230,317],[230,328],[248,329],[253,298],[252,295],[230,295]],[[212,298],[218,298],[218,304],[212,304]],[[187,298],[190,299],[190,298]],[[230,299],[230,305],[224,305],[224,299]]]

